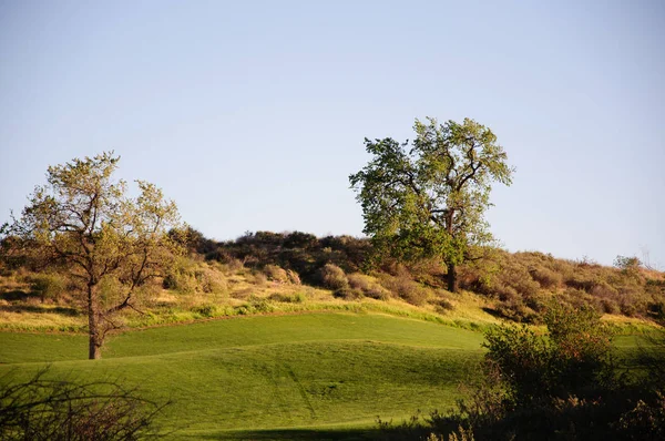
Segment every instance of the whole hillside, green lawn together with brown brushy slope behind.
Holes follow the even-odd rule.
[[[492,249],[459,268],[453,294],[436,263],[370,265],[365,239],[191,233],[187,255],[142,287],[95,362],[66,278],[6,261],[0,384],[49,365],[48,379],[137,387],[172,402],[156,420],[168,439],[378,440],[377,417],[408,420],[464,397],[493,324],[539,325],[552,301],[590,305],[620,326],[625,361],[634,334],[663,319],[665,275],[638,265]]]

